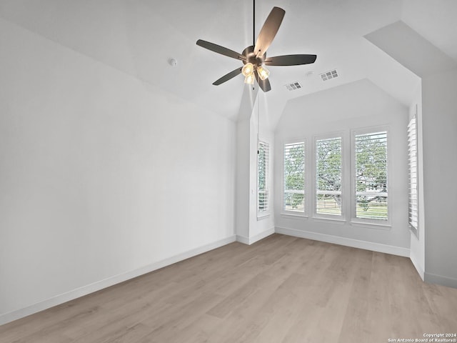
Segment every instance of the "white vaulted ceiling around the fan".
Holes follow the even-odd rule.
[[[273,122],[288,99],[360,79],[408,104],[418,76],[364,38],[397,21],[457,61],[454,0],[257,0],[256,34],[273,6],[286,16],[268,56],[318,55],[315,64],[271,66],[265,101]],[[3,19],[231,119],[247,87],[243,76],[212,82],[241,62],[196,40],[241,52],[252,44],[252,15],[248,0],[0,0]],[[331,69],[338,78],[321,81]],[[303,88],[288,91],[284,85],[293,81]]]

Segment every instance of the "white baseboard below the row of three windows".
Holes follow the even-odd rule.
[[[371,250],[373,252],[383,252],[385,254],[398,255],[409,257],[409,249],[403,247],[393,247],[392,245],[379,244],[373,242],[360,241],[346,237],[331,236],[330,234],[319,234],[317,232],[308,232],[296,229],[286,229],[284,227],[276,227],[275,232],[278,234],[287,234],[288,236],[313,239],[326,243],[344,245],[358,249]]]

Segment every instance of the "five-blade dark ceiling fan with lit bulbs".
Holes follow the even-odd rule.
[[[253,35],[255,30],[255,9],[256,2],[253,0]],[[238,52],[231,49],[227,49],[224,46],[199,39],[196,43],[197,45],[217,52],[218,54],[223,54],[224,56],[229,56],[233,59],[239,59],[244,64],[244,66],[237,68],[214,81],[213,84],[219,86],[219,84],[223,84],[224,82],[233,79],[233,77],[238,76],[238,74],[243,74],[243,76],[245,76],[244,83],[253,84],[254,79],[256,79],[258,86],[260,86],[263,91],[270,91],[271,85],[270,81],[268,81],[270,71],[266,69],[266,66],[298,66],[301,64],[314,63],[314,61],[316,61],[316,55],[297,54],[273,57],[266,56],[266,50],[276,36],[279,26],[281,26],[281,22],[283,21],[284,14],[286,14],[286,11],[283,9],[273,7],[258,34],[255,44],[248,46],[241,54],[238,54]],[[253,41],[254,40],[255,37],[253,37]]]

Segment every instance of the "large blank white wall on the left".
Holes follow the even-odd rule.
[[[0,324],[234,239],[232,121],[2,19],[0,46]]]

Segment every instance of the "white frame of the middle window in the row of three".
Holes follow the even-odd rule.
[[[318,140],[322,139],[334,139],[334,138],[340,138],[341,139],[341,214],[321,214],[317,213],[316,205],[317,205],[317,161],[316,161],[316,142]],[[346,168],[345,168],[345,134],[343,131],[338,131],[338,132],[333,132],[331,134],[323,134],[323,135],[316,135],[313,136],[313,149],[312,149],[312,158],[313,158],[313,171],[312,171],[312,187],[311,187],[311,194],[312,197],[310,202],[311,202],[311,207],[312,207],[312,213],[313,213],[313,218],[315,219],[328,219],[328,220],[334,220],[338,222],[344,222],[346,221],[346,187],[345,187],[345,179],[346,179]]]

